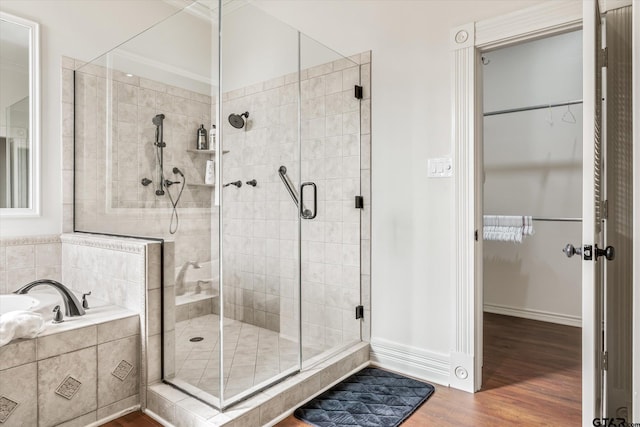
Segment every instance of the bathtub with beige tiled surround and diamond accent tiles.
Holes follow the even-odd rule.
[[[0,347],[0,389],[9,407],[1,425],[94,427],[140,408],[140,317],[98,298],[88,302],[84,316],[46,320],[37,337]],[[26,309],[51,319],[56,305],[64,311],[58,292],[44,287],[0,295],[2,312]]]

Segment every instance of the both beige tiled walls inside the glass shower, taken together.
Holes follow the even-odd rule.
[[[359,336],[353,308],[359,303],[361,284],[365,310],[369,307],[370,54],[351,59],[355,62],[339,60],[301,72],[303,180],[318,184],[320,199],[317,220],[303,225],[303,322],[306,336],[327,347]],[[362,65],[356,65],[360,61]],[[68,166],[73,164],[73,139],[64,131],[74,126],[74,84],[69,79],[80,65],[63,60],[66,186],[73,177]],[[174,239],[176,270],[189,260],[211,260],[215,270],[217,229],[212,235],[211,224],[217,223],[218,208],[198,207],[211,203],[211,189],[187,186],[179,205],[180,228],[171,236],[166,196],[158,201],[152,185],[140,185],[143,177],[155,178],[151,119],[159,113],[167,117],[165,170],[178,166],[188,182],[203,181],[209,156],[187,149],[195,146],[199,124],[209,126],[210,98],[116,71],[109,77],[97,66],[77,72],[76,228]],[[296,211],[277,168],[286,165],[292,178],[298,174],[297,77],[282,76],[226,93],[223,99],[223,117],[251,111],[245,129],[236,130],[224,121],[225,150],[230,151],[224,157],[224,182],[258,181],[255,188],[244,184],[223,190],[229,285],[225,315],[289,336],[295,336],[296,328]],[[358,80],[364,86],[362,101],[353,97]],[[112,100],[110,112],[107,97]],[[195,106],[189,107],[192,102]],[[107,134],[109,114],[111,146],[97,143]],[[365,201],[362,211],[353,208],[359,186]],[[72,206],[67,199],[73,201],[65,197],[65,229]],[[212,271],[214,281],[217,275]],[[325,316],[331,320],[325,322]],[[368,315],[365,323],[367,319]],[[368,326],[363,338],[368,338]]]

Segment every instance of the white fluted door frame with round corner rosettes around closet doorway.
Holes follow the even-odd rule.
[[[583,0],[591,2],[593,0]],[[588,3],[587,3],[588,4]],[[480,52],[526,40],[582,28],[583,2],[554,1],[516,11],[497,18],[472,22],[453,28],[452,52],[452,145],[454,158],[454,245],[453,315],[455,336],[450,355],[449,382],[454,388],[478,391],[482,385],[483,365],[483,271],[482,244],[476,232],[482,230],[482,84]],[[634,8],[633,31],[637,37],[640,11]],[[638,118],[640,89],[638,71],[640,47],[634,46],[634,116]],[[636,122],[639,122],[636,120]],[[640,130],[634,128],[634,146],[640,142]],[[634,150],[634,165],[640,164],[640,150]],[[640,208],[640,173],[634,169],[634,212]],[[640,219],[634,216],[634,354],[640,354]],[[591,301],[589,301],[591,300]],[[594,302],[593,292],[583,289],[583,307]],[[584,322],[584,320],[583,320]],[[585,328],[586,327],[586,328]],[[583,323],[583,337],[595,330]],[[634,358],[634,372],[640,361]],[[585,363],[587,362],[587,363]],[[592,363],[593,362],[593,363]],[[583,364],[593,366],[594,361]],[[583,373],[584,376],[584,373]],[[594,393],[593,376],[583,379],[583,396]],[[634,419],[640,419],[640,375],[634,376]],[[590,421],[590,405],[583,400],[583,418]]]

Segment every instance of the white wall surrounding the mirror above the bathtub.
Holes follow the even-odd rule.
[[[128,9],[123,12],[123,7]],[[40,24],[42,84],[42,214],[34,219],[2,218],[0,237],[62,231],[61,58],[90,60],[176,8],[157,0],[2,0],[0,10]]]

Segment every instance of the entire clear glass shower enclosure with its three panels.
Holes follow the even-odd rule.
[[[359,86],[245,1],[77,68],[74,228],[165,242],[164,382],[224,409],[360,341]]]

